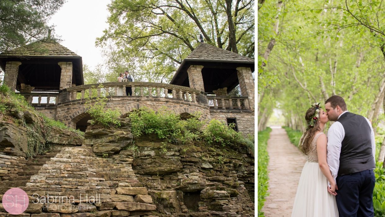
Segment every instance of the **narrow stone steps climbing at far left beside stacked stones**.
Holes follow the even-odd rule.
[[[13,187],[25,187],[30,181],[31,176],[37,174],[45,162],[50,161],[50,158],[55,157],[58,153],[59,152],[50,152],[29,159],[23,167],[23,171],[17,173],[18,176],[9,177],[8,181],[0,181],[0,194],[4,194],[8,189]]]

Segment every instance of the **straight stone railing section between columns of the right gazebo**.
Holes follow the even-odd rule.
[[[213,109],[250,109],[248,97],[243,96],[207,96]]]

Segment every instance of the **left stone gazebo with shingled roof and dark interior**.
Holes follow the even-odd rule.
[[[4,81],[13,91],[59,91],[84,84],[82,57],[55,41],[34,42],[0,54]]]

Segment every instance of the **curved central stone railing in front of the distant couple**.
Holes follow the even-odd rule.
[[[110,82],[101,84],[87,84],[71,87],[59,91],[59,103],[70,100],[83,100],[87,96],[118,96],[118,88],[122,88],[123,95],[126,96],[126,87],[132,88],[132,95],[139,97],[159,97],[159,98],[179,98],[193,103],[197,102],[199,94],[204,94],[196,89],[184,86],[177,86],[165,83],[147,83],[147,82]]]

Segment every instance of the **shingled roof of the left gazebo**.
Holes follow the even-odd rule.
[[[25,56],[25,57],[75,57],[81,58],[76,53],[59,43],[52,42],[33,42],[23,47],[18,47],[13,50],[5,51],[0,54],[1,57],[9,56]]]

